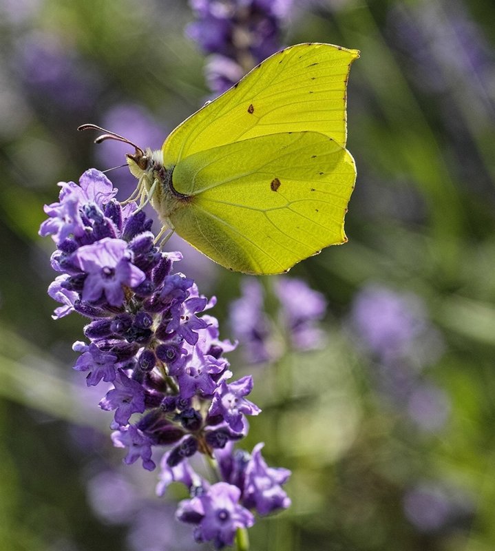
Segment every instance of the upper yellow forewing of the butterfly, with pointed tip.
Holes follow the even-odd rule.
[[[346,85],[357,50],[286,48],[187,118],[162,147],[165,167],[196,152],[278,132],[320,132],[346,144]]]

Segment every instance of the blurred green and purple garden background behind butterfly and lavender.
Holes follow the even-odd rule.
[[[222,337],[249,341],[243,305],[259,329],[231,353],[264,410],[243,445],[293,470],[293,506],[252,549],[493,551],[495,4],[294,4],[284,44],[361,50],[350,240],[287,276],[320,293],[292,282],[311,334],[287,329],[291,282],[173,242],[217,295]],[[58,181],[123,162],[78,125],[157,148],[209,97],[191,21],[185,0],[0,1],[0,551],[198,548],[173,521],[179,490],[154,497],[156,473],[109,443],[101,390],[72,370],[83,320],[50,318],[53,243],[37,236]],[[125,198],[126,169],[109,176]]]

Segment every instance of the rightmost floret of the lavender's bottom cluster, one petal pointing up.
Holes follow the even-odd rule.
[[[260,514],[268,514],[291,505],[291,499],[281,488],[291,471],[268,467],[261,455],[263,446],[260,443],[253,448],[251,459],[246,465],[242,503],[250,509],[255,508]]]

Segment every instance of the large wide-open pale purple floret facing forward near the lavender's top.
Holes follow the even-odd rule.
[[[143,271],[131,264],[129,255],[127,242],[121,239],[104,238],[79,247],[72,260],[88,274],[83,300],[94,302],[103,294],[109,304],[120,306],[124,300],[123,285],[136,287],[146,278]]]

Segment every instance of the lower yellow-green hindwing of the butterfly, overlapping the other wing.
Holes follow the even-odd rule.
[[[257,136],[180,160],[173,187],[189,199],[171,222],[224,267],[281,273],[346,241],[355,178],[352,156],[324,134]]]

